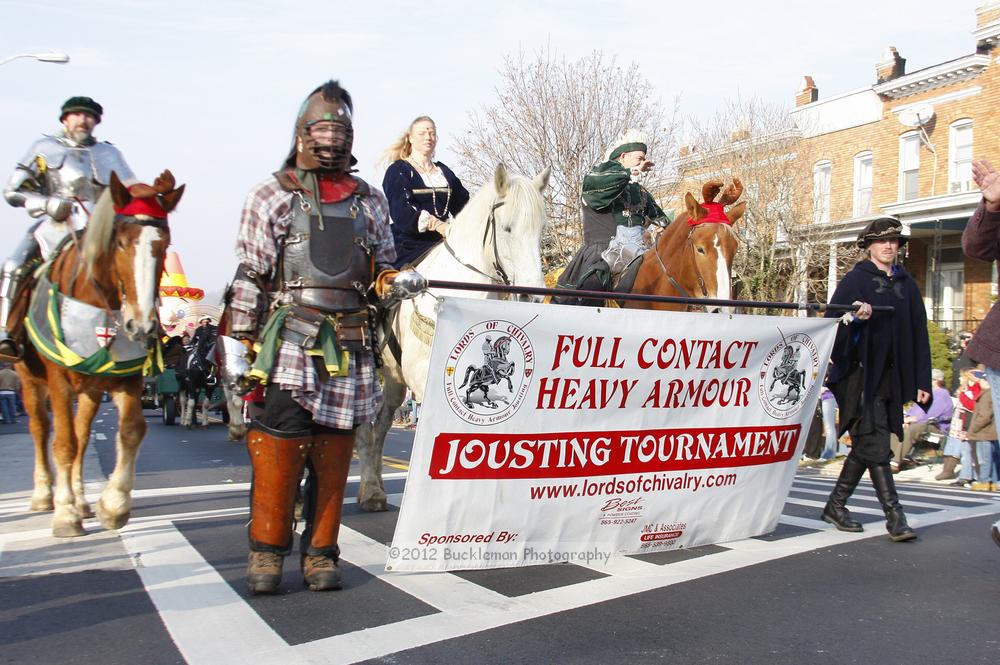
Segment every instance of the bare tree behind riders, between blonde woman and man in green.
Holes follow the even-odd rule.
[[[497,162],[526,174],[552,166],[542,258],[547,269],[559,267],[582,242],[583,176],[628,128],[645,133],[654,161],[672,154],[676,113],[665,119],[636,63],[622,67],[600,51],[576,61],[551,49],[533,58],[508,55],[499,73],[496,100],[469,114],[458,140],[462,175],[478,186],[492,177]]]

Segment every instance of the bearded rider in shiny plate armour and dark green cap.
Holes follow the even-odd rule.
[[[21,356],[24,313],[15,308],[15,299],[38,261],[48,259],[66,236],[86,226],[112,171],[126,185],[135,182],[118,148],[94,138],[103,114],[103,107],[90,97],[67,99],[59,115],[62,131],[35,141],[4,187],[7,202],[38,221],[0,274],[0,359]]]

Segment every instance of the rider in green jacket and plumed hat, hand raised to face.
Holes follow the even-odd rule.
[[[615,276],[649,249],[650,235],[670,223],[653,195],[639,180],[653,168],[649,148],[635,130],[627,130],[583,179],[583,247],[559,277],[559,286],[608,291]],[[650,234],[645,234],[649,230]],[[588,304],[560,297],[564,304]]]

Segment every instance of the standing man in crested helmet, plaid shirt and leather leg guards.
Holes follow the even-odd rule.
[[[379,296],[403,298],[426,286],[392,269],[385,197],[350,174],[352,114],[338,83],[314,90],[285,163],[251,189],[240,220],[228,336],[219,340],[227,383],[265,385],[263,414],[247,433],[253,593],[278,590],[306,468],[303,579],[313,591],[341,587],[337,537],[354,430],[374,420],[382,399],[368,292],[374,282]]]

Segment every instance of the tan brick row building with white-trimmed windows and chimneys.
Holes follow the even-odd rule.
[[[996,268],[966,258],[961,235],[980,200],[973,156],[1000,167],[1000,0],[976,9],[967,54],[907,72],[888,47],[875,74],[827,99],[803,77],[791,111],[812,162],[811,219],[801,230],[822,230],[830,293],[844,269],[838,246],[875,217],[899,218],[928,317],[952,332],[975,329],[996,298]]]

